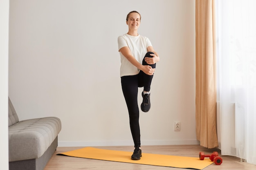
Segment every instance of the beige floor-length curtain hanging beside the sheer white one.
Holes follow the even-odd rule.
[[[195,0],[196,136],[206,148],[218,147],[216,130],[216,33],[214,0]]]

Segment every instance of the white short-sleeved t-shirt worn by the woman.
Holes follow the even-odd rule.
[[[128,46],[133,57],[139,62],[142,63],[144,56],[146,55],[147,47],[152,46],[150,40],[141,35],[132,36],[129,34],[124,34],[118,37],[118,51],[124,47]],[[125,75],[137,75],[139,74],[139,69],[130,63],[127,58],[121,53],[121,67],[120,67],[120,77]]]

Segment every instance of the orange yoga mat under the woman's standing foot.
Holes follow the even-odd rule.
[[[209,159],[205,159],[201,161],[199,157],[159,155],[159,154],[150,154],[150,153],[144,153],[144,152],[142,152],[142,157],[140,160],[134,161],[134,160],[131,160],[132,153],[133,152],[85,147],[77,150],[72,150],[69,152],[62,152],[57,155],[65,155],[70,157],[89,158],[89,159],[99,159],[99,160],[105,160],[105,161],[137,163],[137,164],[153,165],[153,166],[186,168],[186,169],[195,169],[195,170],[202,170],[213,163]]]

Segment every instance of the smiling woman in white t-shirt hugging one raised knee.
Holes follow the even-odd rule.
[[[156,62],[159,61],[159,56],[153,49],[150,40],[138,34],[140,20],[141,15],[137,11],[128,13],[126,17],[128,33],[118,37],[118,50],[121,56],[121,85],[128,108],[130,129],[135,147],[131,156],[132,160],[139,160],[142,156],[137,101],[138,87],[144,87],[141,93],[143,98],[141,110],[148,112],[150,109],[150,85]]]

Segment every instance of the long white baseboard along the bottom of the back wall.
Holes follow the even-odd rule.
[[[199,141],[193,140],[171,140],[171,141],[141,141],[141,145],[198,145]],[[60,147],[75,146],[133,146],[133,141],[58,141]]]

